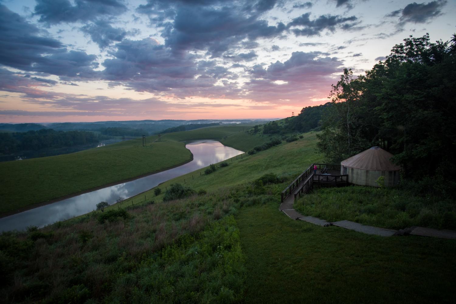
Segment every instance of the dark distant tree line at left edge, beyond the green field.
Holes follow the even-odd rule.
[[[10,155],[19,151],[71,147],[97,143],[106,136],[88,131],[38,131],[0,133],[0,154]]]

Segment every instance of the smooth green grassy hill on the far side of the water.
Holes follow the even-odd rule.
[[[180,141],[229,138],[225,144],[251,149],[263,142],[242,132],[246,126],[217,126],[128,140],[67,155],[0,163],[0,213],[165,170],[191,160]]]

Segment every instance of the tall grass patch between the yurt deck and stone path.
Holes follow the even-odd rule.
[[[405,189],[321,188],[302,196],[295,209],[329,222],[349,220],[394,229],[410,226],[456,229],[454,199],[422,196]]]

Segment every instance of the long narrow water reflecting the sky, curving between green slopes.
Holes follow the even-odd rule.
[[[73,216],[79,216],[93,211],[95,205],[100,201],[107,201],[112,204],[119,197],[135,196],[166,180],[243,153],[226,147],[215,140],[200,140],[189,143],[186,147],[192,151],[193,160],[185,165],[0,218],[0,231],[23,230],[31,225],[43,227]]]

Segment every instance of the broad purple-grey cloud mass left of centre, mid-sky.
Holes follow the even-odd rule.
[[[168,92],[184,98],[196,93],[205,96],[204,92],[218,79],[237,77],[215,61],[197,62],[196,56],[172,52],[150,38],[124,39],[115,46],[117,51],[111,53],[114,58],[103,62],[103,77],[112,81],[112,86],[124,85],[139,92]]]

